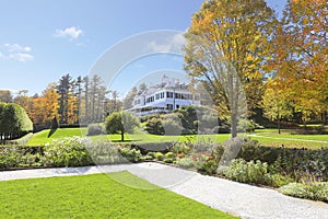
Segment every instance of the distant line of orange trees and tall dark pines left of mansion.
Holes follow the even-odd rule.
[[[13,97],[10,91],[0,91],[0,102],[23,106],[35,129],[50,128],[54,119],[61,126],[104,122],[105,117],[121,108],[117,91],[109,91],[102,78],[77,77],[69,73],[50,83],[42,94],[26,95],[22,90]]]

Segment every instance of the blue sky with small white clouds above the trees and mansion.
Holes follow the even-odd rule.
[[[154,32],[184,32],[202,0],[11,0],[0,3],[0,90],[28,90],[40,94],[63,74],[90,76],[106,55],[107,64],[132,55],[129,39],[142,41],[156,51],[164,45],[147,38]],[[285,0],[267,0],[281,12]],[[156,33],[157,33],[156,32]],[[150,34],[149,34],[150,33]],[[164,33],[165,34],[165,33]],[[176,39],[172,35],[172,39]],[[139,39],[140,41],[140,39]],[[118,46],[117,46],[118,45]],[[125,47],[124,47],[125,46]],[[114,54],[115,49],[124,53]],[[131,49],[131,50],[130,50]],[[134,49],[134,50],[133,50]],[[110,90],[126,92],[147,76],[166,72],[183,78],[180,54],[143,54],[126,59],[119,72],[105,81]],[[114,57],[114,58],[113,58]],[[108,73],[108,71],[106,71]],[[113,73],[113,72],[112,72]],[[154,78],[154,77],[153,77]]]

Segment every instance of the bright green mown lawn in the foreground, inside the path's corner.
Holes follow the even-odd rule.
[[[234,218],[128,172],[0,182],[0,218]]]

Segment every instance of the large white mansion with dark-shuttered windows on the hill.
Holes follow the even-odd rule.
[[[173,110],[187,105],[200,105],[199,95],[189,91],[189,83],[165,74],[162,83],[148,88],[133,100],[133,107],[129,111],[138,116],[169,113]]]

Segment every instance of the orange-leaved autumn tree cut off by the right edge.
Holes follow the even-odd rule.
[[[274,37],[271,68],[304,123],[328,108],[326,1],[289,1]]]

